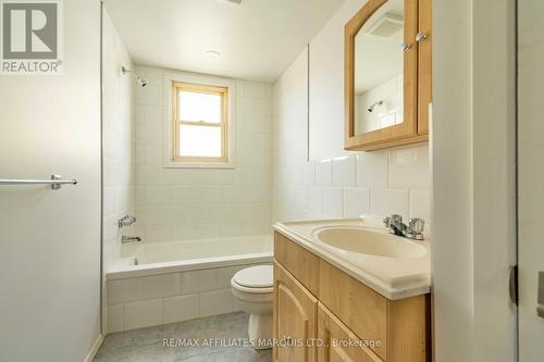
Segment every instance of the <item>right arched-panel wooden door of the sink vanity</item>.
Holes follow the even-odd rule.
[[[318,348],[318,362],[382,362],[321,303],[318,311],[318,338],[323,342]]]

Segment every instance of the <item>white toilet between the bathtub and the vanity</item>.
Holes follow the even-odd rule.
[[[231,279],[232,292],[240,309],[249,314],[248,335],[255,349],[272,348],[272,265],[246,267]]]

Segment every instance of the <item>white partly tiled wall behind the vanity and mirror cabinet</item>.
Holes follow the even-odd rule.
[[[343,43],[343,22],[359,9],[358,4],[360,1],[344,3],[310,45],[310,152],[319,147],[314,154],[320,159],[307,162],[307,50],[274,85],[274,220],[399,213],[429,222],[426,145],[338,157],[344,153],[343,57],[326,62],[314,52],[318,48],[324,55],[329,48],[326,57],[335,57],[329,53],[336,51],[336,42]],[[343,49],[337,51],[343,53]],[[314,97],[319,102],[316,98],[311,101],[317,84],[320,95]],[[320,124],[317,116],[331,123]],[[327,136],[318,141],[312,138],[319,137],[317,134]]]

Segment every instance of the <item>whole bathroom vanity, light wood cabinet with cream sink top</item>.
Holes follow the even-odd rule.
[[[274,228],[274,361],[431,360],[428,241],[361,220]]]

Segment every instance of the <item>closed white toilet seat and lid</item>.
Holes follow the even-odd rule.
[[[274,290],[274,271],[272,265],[246,267],[234,274],[231,285],[239,291],[250,294],[270,294]]]

